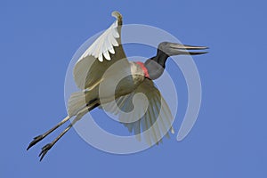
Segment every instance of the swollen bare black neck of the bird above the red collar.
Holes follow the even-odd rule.
[[[149,71],[150,79],[160,77],[165,69],[165,63],[169,56],[158,50],[157,55],[145,61],[145,67]]]

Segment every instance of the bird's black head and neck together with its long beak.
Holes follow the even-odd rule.
[[[145,61],[144,65],[148,69],[150,79],[157,79],[165,69],[166,60],[174,55],[198,55],[207,52],[189,52],[188,50],[205,50],[206,46],[193,46],[184,44],[174,44],[162,42],[158,44],[157,55]]]

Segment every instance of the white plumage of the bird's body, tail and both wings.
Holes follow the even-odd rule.
[[[139,102],[141,104],[135,107],[131,116],[127,116],[128,123],[124,125],[130,132],[134,131],[134,134],[141,134],[159,119],[158,123],[160,124],[156,123],[156,125],[152,126],[152,132],[144,134],[146,141],[153,144],[161,140],[162,136],[164,136],[162,134],[167,134],[171,127],[170,120],[173,117],[166,101],[162,98],[152,80],[140,77],[144,76],[141,67],[135,62],[126,60],[123,46],[120,44],[121,25],[118,24],[122,24],[121,15],[116,12],[113,12],[113,14],[117,17],[117,20],[91,44],[77,61],[74,77],[77,86],[83,91],[71,95],[69,99],[69,115],[72,116],[77,113],[78,109],[83,108],[86,103],[94,98],[102,97],[107,99],[101,100],[101,105],[105,104],[105,107],[101,108],[116,114],[119,120],[122,121],[125,118],[124,111],[127,109],[128,112],[131,111],[130,106],[133,105],[134,94],[143,93],[146,99],[139,100],[148,100],[149,106],[147,110],[144,110],[146,107],[144,107],[143,102]],[[109,69],[111,66],[113,69]],[[111,85],[117,85],[115,78],[120,76],[127,77],[124,82],[121,82],[122,85],[117,87],[119,91],[113,96]],[[99,95],[100,85],[105,88],[104,96]],[[115,105],[114,102],[110,103],[114,99],[117,101]],[[160,110],[162,110],[161,113],[159,112]],[[134,122],[131,123],[130,118]],[[172,133],[174,132],[173,128],[171,131]],[[139,139],[141,139],[140,135]]]

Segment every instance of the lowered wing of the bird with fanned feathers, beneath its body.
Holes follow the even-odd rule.
[[[144,94],[147,99],[142,94],[138,96],[138,93]],[[152,145],[161,142],[168,132],[174,134],[171,111],[150,79],[146,78],[134,93],[122,96],[116,102],[117,105],[108,103],[102,108],[118,115],[119,121],[130,133],[134,132],[137,139],[142,139],[143,135],[145,141]],[[150,132],[145,132],[149,129]]]

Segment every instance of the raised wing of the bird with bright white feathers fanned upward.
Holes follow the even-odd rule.
[[[121,45],[122,15],[112,12],[117,20],[99,36],[77,61],[73,70],[74,80],[80,89],[97,85],[105,71],[115,62],[123,60],[129,65]]]

